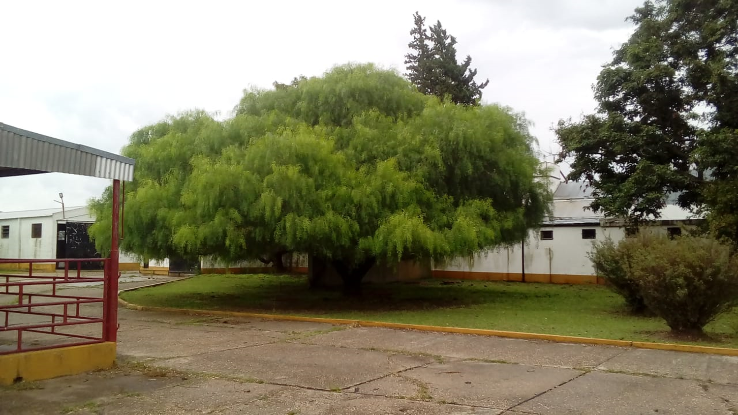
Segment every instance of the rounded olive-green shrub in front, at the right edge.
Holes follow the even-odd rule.
[[[717,315],[738,305],[738,257],[728,245],[706,237],[646,233],[619,248],[631,256],[627,278],[672,331],[701,333]]]

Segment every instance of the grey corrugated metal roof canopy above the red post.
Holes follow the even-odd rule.
[[[0,177],[62,172],[132,181],[135,164],[133,158],[0,122]]]

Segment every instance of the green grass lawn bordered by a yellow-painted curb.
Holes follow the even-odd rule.
[[[355,318],[628,341],[738,347],[738,309],[706,327],[708,341],[675,340],[660,318],[629,315],[605,287],[440,280],[367,284],[361,299],[310,290],[306,276],[202,275],[125,292],[134,304]]]

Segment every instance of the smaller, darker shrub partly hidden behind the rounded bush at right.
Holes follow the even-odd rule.
[[[595,266],[597,276],[604,279],[607,287],[625,299],[625,303],[633,313],[640,314],[646,312],[646,304],[638,283],[627,272],[634,242],[632,238],[627,238],[615,244],[608,238],[595,243],[589,257]]]

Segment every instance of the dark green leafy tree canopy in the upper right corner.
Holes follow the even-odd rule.
[[[669,194],[738,239],[738,1],[656,0],[594,88],[596,114],[560,121],[561,159],[592,208],[638,223]]]

